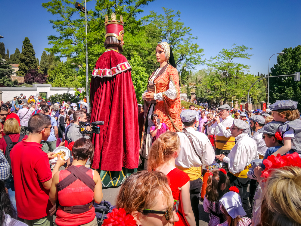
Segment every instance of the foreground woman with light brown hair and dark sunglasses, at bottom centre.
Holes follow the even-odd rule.
[[[162,172],[139,171],[121,185],[116,208],[123,208],[127,215],[132,215],[136,225],[173,225],[179,220],[176,214],[178,202],[174,201],[167,177]],[[112,225],[107,224],[112,221],[109,216],[103,225]]]

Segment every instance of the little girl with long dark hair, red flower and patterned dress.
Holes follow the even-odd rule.
[[[219,208],[219,199],[223,196],[223,191],[228,184],[229,179],[225,169],[215,169],[209,173],[203,202],[204,211],[210,213],[208,226],[217,226],[224,222],[223,213]]]

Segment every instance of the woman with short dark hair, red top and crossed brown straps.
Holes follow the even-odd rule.
[[[101,179],[97,171],[85,168],[87,160],[93,158],[94,147],[90,140],[86,138],[80,138],[74,142],[73,148],[73,162],[70,168],[61,170],[54,174],[52,184],[49,193],[49,200],[54,205],[59,201],[59,207],[57,209],[57,217],[55,219],[55,225],[57,226],[78,226],[78,225],[90,225],[97,226],[97,220],[95,217],[95,209],[92,206],[92,201],[100,203],[103,197]],[[76,168],[76,169],[74,169]],[[82,180],[75,178],[74,182],[65,183],[65,187],[61,186],[66,180],[66,177],[70,177],[75,173],[76,176],[87,174],[87,177],[83,178],[84,181],[92,183],[88,187]],[[68,178],[69,178],[68,177]],[[64,182],[62,182],[64,180]],[[60,183],[61,182],[61,183]],[[94,185],[94,184],[95,185]],[[67,187],[66,185],[69,184]],[[64,188],[62,188],[64,187]],[[90,204],[91,203],[91,204]],[[71,213],[70,209],[76,209],[76,206],[82,206],[84,210]]]

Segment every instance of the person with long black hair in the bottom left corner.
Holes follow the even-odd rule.
[[[4,182],[0,180],[0,225],[3,226],[27,226],[27,224],[16,220],[17,211],[9,199]]]

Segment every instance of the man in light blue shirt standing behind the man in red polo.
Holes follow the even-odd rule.
[[[58,135],[58,129],[57,129],[57,121],[55,120],[54,117],[50,116],[50,109],[48,105],[42,105],[41,107],[41,112],[42,110],[45,111],[44,115],[48,115],[51,119],[51,132],[47,140],[42,140],[42,150],[43,152],[53,152],[54,149],[56,149],[56,139]]]

